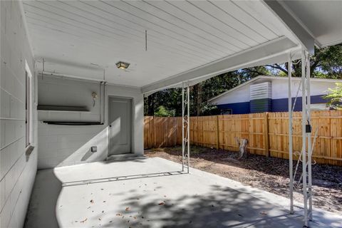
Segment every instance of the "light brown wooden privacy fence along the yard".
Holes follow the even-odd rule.
[[[311,112],[313,158],[342,166],[342,110]],[[182,144],[182,118],[145,117],[145,148]],[[192,145],[237,151],[235,138],[247,138],[252,154],[289,159],[288,113],[190,117]],[[293,115],[293,148],[301,152],[301,112]],[[294,155],[294,159],[298,156]]]

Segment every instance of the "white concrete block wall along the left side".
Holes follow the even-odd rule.
[[[35,150],[25,154],[25,66],[34,62],[19,1],[0,1],[0,227],[22,227],[37,169],[36,108],[33,105]],[[32,95],[36,100],[33,75]]]

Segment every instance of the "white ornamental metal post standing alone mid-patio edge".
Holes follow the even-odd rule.
[[[186,151],[185,151],[186,150]],[[185,157],[187,164],[185,164]],[[182,83],[182,172],[190,172],[190,88]]]

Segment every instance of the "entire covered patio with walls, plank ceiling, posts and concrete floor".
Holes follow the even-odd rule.
[[[311,227],[341,227],[341,218],[312,208],[306,129],[309,57],[315,46],[341,43],[342,1],[0,6],[1,227],[23,227],[25,218],[35,228],[308,227],[310,220]],[[288,62],[291,69],[300,58],[304,211],[192,170],[190,86],[250,66]],[[182,88],[181,166],[142,157],[143,99],[165,88]]]

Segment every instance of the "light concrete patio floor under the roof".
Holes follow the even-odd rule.
[[[39,170],[25,227],[302,227],[289,199],[159,157]],[[314,210],[311,227],[342,227]]]

